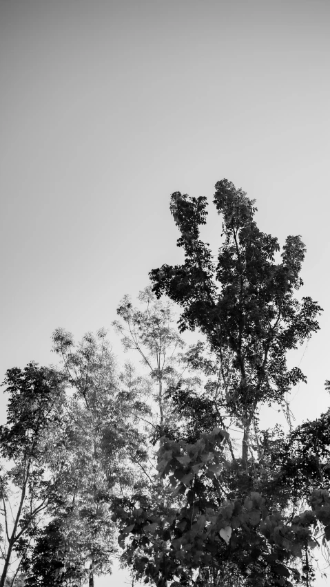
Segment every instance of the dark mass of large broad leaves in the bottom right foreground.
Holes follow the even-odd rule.
[[[230,467],[221,445],[227,432],[215,429],[194,445],[164,440],[159,451],[159,476],[174,488],[172,498],[185,500],[166,512],[149,502],[141,507],[118,503],[114,519],[120,522],[119,540],[127,546],[138,578],[159,587],[177,582],[189,586],[244,584],[289,586],[306,579],[294,564],[317,546],[313,528],[324,525],[329,540],[330,498],[327,491],[313,491],[311,507],[288,520],[280,511],[269,511],[267,500],[251,491],[244,499],[223,500]],[[140,551],[135,557],[134,553]],[[302,573],[313,571],[309,562]],[[209,583],[209,581],[211,581]]]

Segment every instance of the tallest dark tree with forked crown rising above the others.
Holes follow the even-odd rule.
[[[305,381],[299,367],[287,368],[286,355],[318,330],[321,308],[310,297],[298,301],[294,295],[302,286],[305,245],[300,236],[287,237],[282,261],[276,262],[278,239],[256,225],[254,200],[221,180],[214,204],[223,219],[216,261],[199,237],[200,225],[206,224],[207,199],[175,192],[170,209],[181,231],[177,244],[185,262],[163,265],[150,277],[158,297],[165,293],[183,308],[181,331],[199,328],[216,354],[225,409],[243,425],[246,463],[258,405],[281,404],[293,385]]]

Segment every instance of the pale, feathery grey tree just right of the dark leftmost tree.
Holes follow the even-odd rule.
[[[63,361],[61,377],[67,401],[63,437],[54,447],[50,469],[57,480],[52,520],[25,556],[23,568],[31,587],[94,584],[94,573],[110,572],[118,556],[111,502],[118,491],[138,487],[146,459],[138,420],[149,414],[140,381],[129,365],[118,373],[101,330],[74,343],[57,329],[54,350]],[[47,560],[47,564],[45,561]]]

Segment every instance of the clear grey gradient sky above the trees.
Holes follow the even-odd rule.
[[[227,178],[262,231],[307,246],[324,312],[291,409],[329,407],[329,25],[327,0],[0,0],[1,381],[54,363],[58,326],[109,328],[120,352],[121,297],[182,259],[169,195],[209,198],[216,249]]]

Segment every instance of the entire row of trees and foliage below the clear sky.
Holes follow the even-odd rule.
[[[59,366],[6,372],[0,587],[91,587],[115,559],[156,587],[313,584],[329,553],[330,411],[293,428],[289,394],[306,377],[287,354],[322,308],[296,293],[300,236],[281,250],[227,180],[213,202],[216,255],[200,239],[207,198],[174,192],[183,262],[117,308],[143,374],[119,365],[105,330],[76,343],[60,328]],[[265,405],[287,427],[263,429]]]

